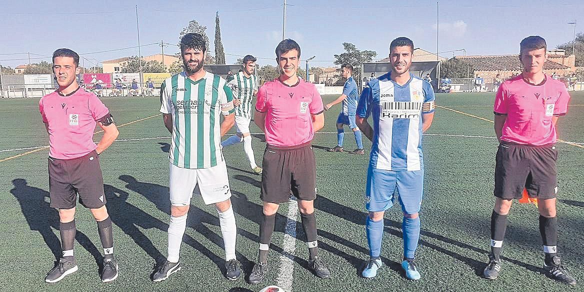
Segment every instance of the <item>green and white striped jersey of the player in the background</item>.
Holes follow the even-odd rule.
[[[253,92],[258,90],[258,77],[250,75],[245,77],[244,72],[234,75],[234,79],[228,83],[233,92],[233,97],[241,101],[241,105],[235,107],[235,115],[238,117],[252,118]]]

